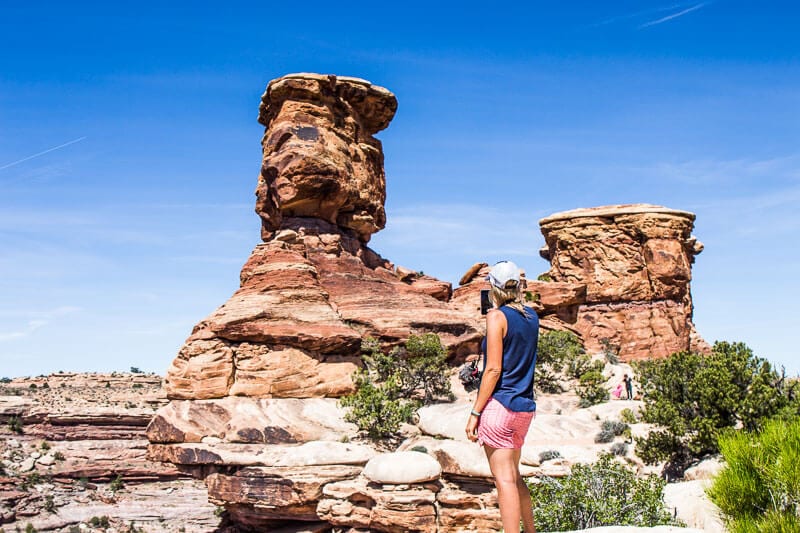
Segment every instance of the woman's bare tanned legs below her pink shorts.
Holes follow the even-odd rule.
[[[489,459],[489,468],[497,487],[503,531],[516,533],[522,520],[525,533],[535,533],[530,493],[519,473],[520,450],[497,449],[485,445],[483,449]]]

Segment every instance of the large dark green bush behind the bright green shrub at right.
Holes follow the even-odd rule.
[[[642,418],[664,430],[637,438],[637,454],[666,471],[682,475],[684,466],[718,451],[725,428],[757,430],[773,415],[800,412],[796,383],[743,343],[717,342],[711,355],[690,352],[636,364],[644,391]]]

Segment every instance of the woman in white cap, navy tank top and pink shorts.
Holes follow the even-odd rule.
[[[519,299],[519,268],[494,265],[488,276],[495,309],[486,315],[484,371],[467,422],[467,438],[483,445],[497,487],[503,531],[535,533],[528,487],[519,473],[525,435],[536,414],[533,374],[539,319]]]

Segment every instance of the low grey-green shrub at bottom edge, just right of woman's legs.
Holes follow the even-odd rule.
[[[594,464],[578,464],[557,479],[529,484],[538,531],[569,531],[599,526],[653,527],[672,524],[664,508],[665,482],[657,476],[637,478],[611,455]]]

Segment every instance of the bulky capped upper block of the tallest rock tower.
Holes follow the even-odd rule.
[[[256,212],[264,240],[286,217],[321,218],[366,242],[386,224],[381,143],[394,95],[358,78],[291,74],[272,80],[258,121],[266,127]]]

